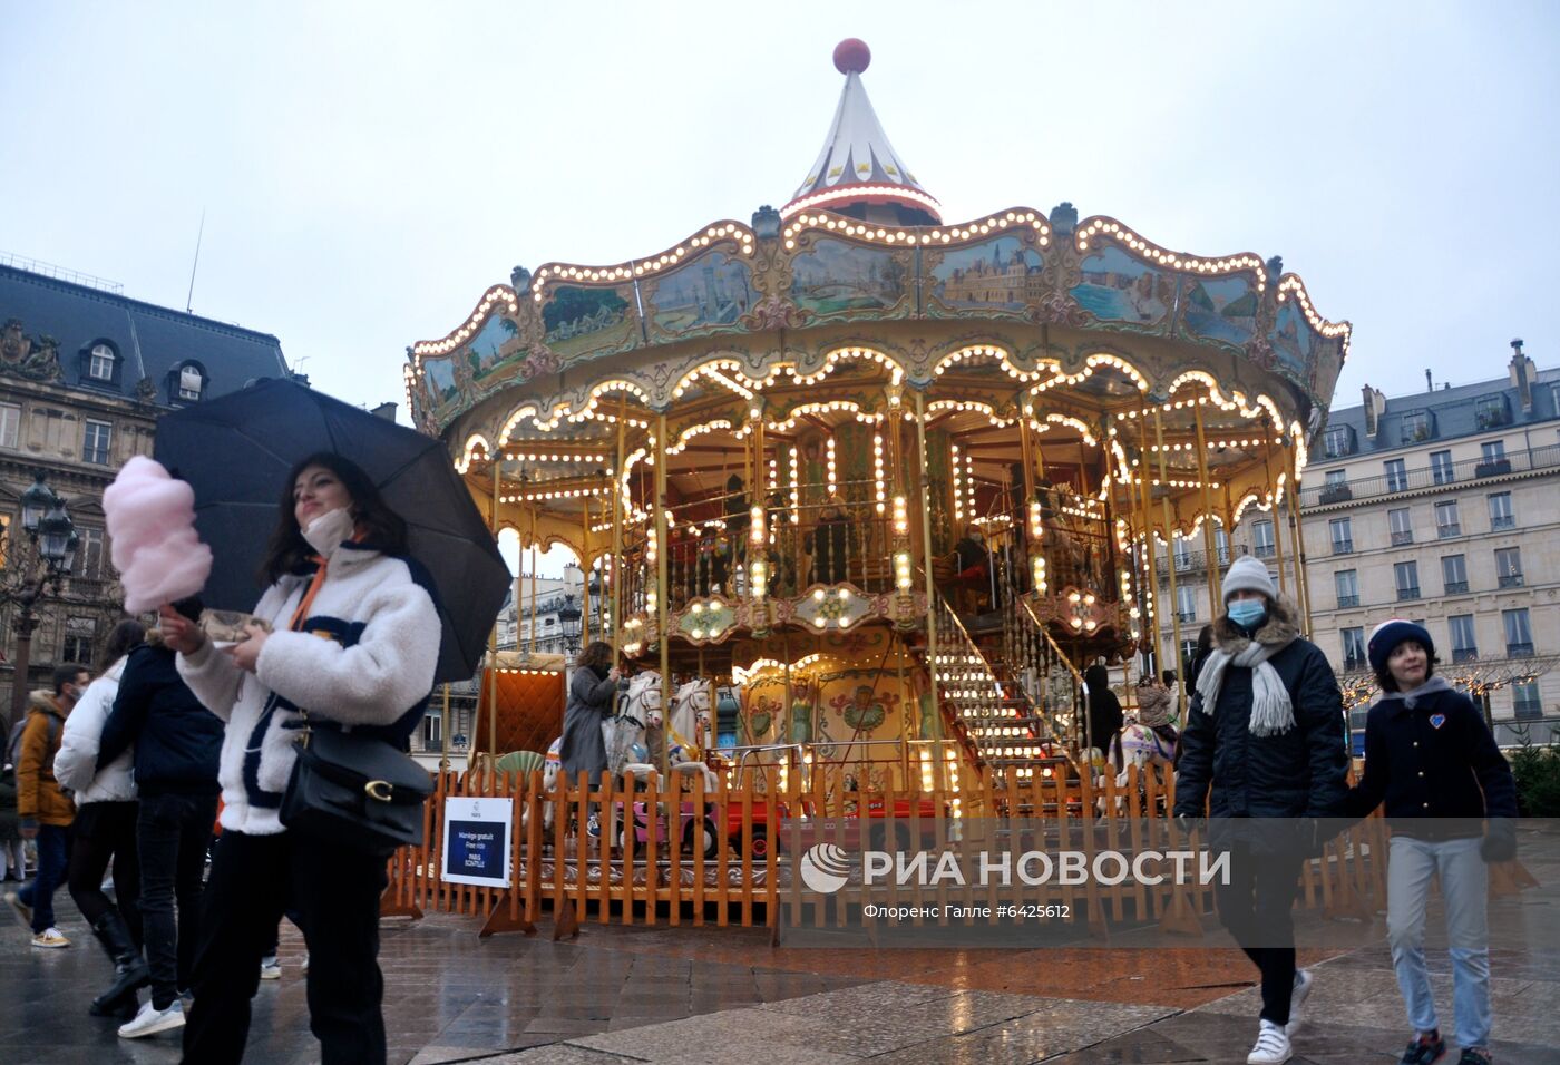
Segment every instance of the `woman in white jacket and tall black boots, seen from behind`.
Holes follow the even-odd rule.
[[[129,652],[147,638],[139,621],[122,621],[109,633],[103,675],[87,685],[66,719],[55,755],[55,780],[75,792],[76,820],[70,826],[70,865],[66,884],[76,909],[92,925],[114,964],[114,982],[92,1000],[94,1017],[128,1020],[136,1015],[136,990],[150,979],[140,956],[140,861],[136,854],[134,753],[125,752],[98,769],[103,722],[114,709],[119,678]],[[114,898],[103,893],[103,873],[114,864]]]

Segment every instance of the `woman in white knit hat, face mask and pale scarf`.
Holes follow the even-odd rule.
[[[1217,819],[1231,853],[1218,917],[1262,973],[1262,1014],[1248,1065],[1279,1065],[1312,976],[1295,968],[1290,909],[1317,819],[1343,812],[1348,731],[1326,655],[1299,636],[1293,605],[1256,558],[1225,574],[1225,616],[1181,733],[1178,819]],[[1268,819],[1246,822],[1232,819]],[[1285,820],[1279,820],[1285,819]],[[1310,837],[1296,844],[1296,834]]]

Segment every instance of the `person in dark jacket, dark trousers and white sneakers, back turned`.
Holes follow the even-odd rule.
[[[201,603],[181,599],[175,611],[193,622]],[[222,750],[222,722],[179,677],[173,649],[164,644],[159,630],[129,652],[114,709],[103,724],[98,766],[131,747],[140,795],[136,844],[151,998],[119,1034],[144,1038],[184,1024],[179,990],[189,987],[195,957]]]

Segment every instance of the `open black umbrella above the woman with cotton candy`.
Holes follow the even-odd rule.
[[[293,465],[334,451],[367,471],[406,519],[443,622],[435,681],[476,672],[509,566],[443,444],[290,380],[267,380],[158,419],[156,458],[195,490],[195,529],[215,561],[207,607],[251,610],[256,571]]]

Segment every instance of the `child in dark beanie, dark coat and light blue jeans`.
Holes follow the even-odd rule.
[[[1487,1065],[1485,862],[1516,856],[1516,781],[1474,702],[1435,675],[1435,644],[1423,625],[1384,622],[1365,653],[1382,695],[1365,719],[1365,775],[1349,791],[1346,812],[1363,817],[1387,803],[1387,942],[1413,1026],[1402,1060],[1427,1063],[1446,1053],[1424,965],[1424,909],[1438,876],[1460,1065]]]

